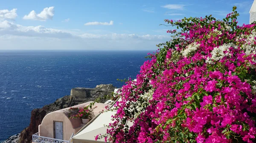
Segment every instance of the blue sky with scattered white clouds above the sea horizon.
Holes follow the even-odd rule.
[[[175,29],[165,19],[223,19],[253,0],[1,0],[0,50],[156,50]]]

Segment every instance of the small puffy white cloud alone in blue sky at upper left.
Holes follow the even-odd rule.
[[[31,11],[28,15],[25,15],[23,17],[24,20],[40,20],[40,21],[46,21],[51,20],[54,16],[54,6],[51,6],[49,8],[44,8],[43,11],[41,11],[40,14],[36,14],[35,11]]]

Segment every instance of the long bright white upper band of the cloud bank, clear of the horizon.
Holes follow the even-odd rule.
[[[107,39],[107,40],[126,40],[126,39],[142,39],[142,40],[158,40],[169,38],[166,35],[137,35],[137,34],[90,34],[81,31],[68,31],[54,28],[46,28],[42,25],[38,26],[22,26],[7,20],[0,22],[1,35],[14,36],[30,36],[30,37],[55,37],[55,38],[82,38],[82,39]]]

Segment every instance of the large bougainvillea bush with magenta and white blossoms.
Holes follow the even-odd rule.
[[[236,7],[165,20],[177,30],[122,87],[105,137],[113,143],[256,143],[256,24]],[[128,121],[133,126],[128,126]]]

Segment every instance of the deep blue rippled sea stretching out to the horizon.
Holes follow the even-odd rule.
[[[148,51],[0,51],[0,142],[29,125],[32,109],[74,87],[135,79]]]

